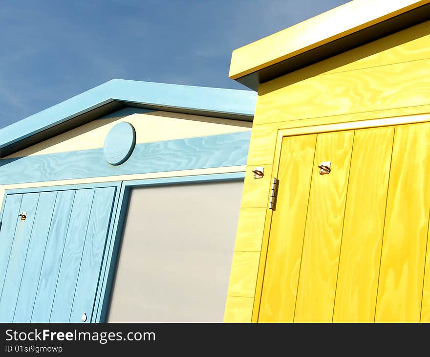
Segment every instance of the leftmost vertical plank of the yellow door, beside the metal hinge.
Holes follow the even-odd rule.
[[[317,135],[285,137],[261,295],[260,322],[292,322]]]

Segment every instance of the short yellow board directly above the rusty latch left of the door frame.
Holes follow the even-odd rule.
[[[277,123],[253,126],[247,165],[273,164],[278,129]]]

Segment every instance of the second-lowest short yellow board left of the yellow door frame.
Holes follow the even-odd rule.
[[[254,297],[259,252],[234,252],[228,296]]]

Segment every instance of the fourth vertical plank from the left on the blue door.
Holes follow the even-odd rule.
[[[49,322],[61,258],[67,236],[75,190],[60,191],[55,201],[53,217],[34,300],[31,322]]]

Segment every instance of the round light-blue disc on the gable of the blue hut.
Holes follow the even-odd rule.
[[[125,121],[116,124],[106,135],[103,152],[111,165],[120,165],[131,155],[136,144],[136,132],[130,123]]]

